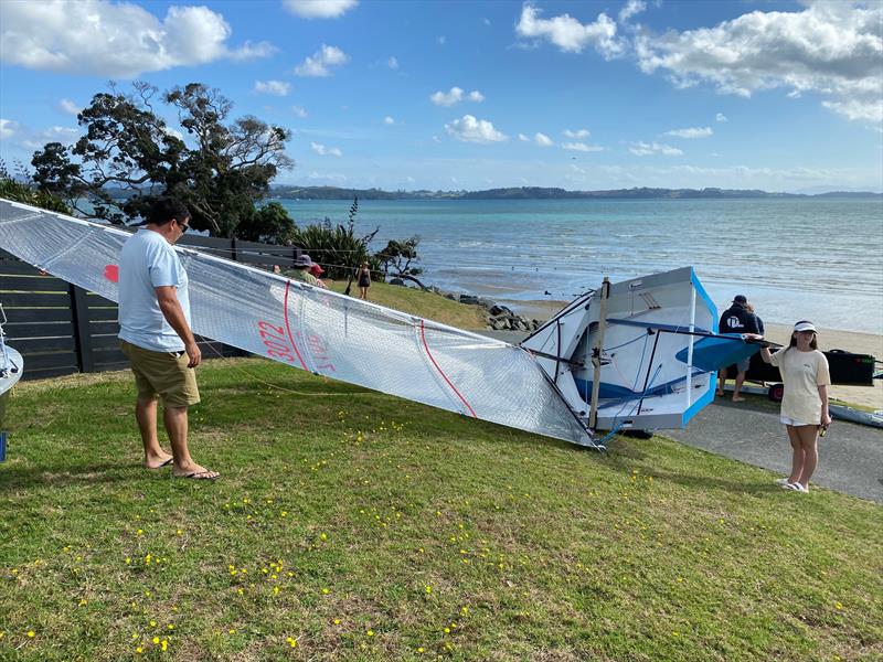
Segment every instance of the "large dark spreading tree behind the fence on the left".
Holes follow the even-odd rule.
[[[217,89],[190,83],[159,94],[147,83],[123,94],[110,84],[77,116],[85,135],[73,146],[47,143],[34,153],[38,186],[77,213],[115,224],[134,222],[159,195],[175,195],[191,224],[215,236],[284,242],[294,222],[279,210],[256,210],[276,173],[294,167],[288,129],[245,116],[228,121],[233,104]],[[157,102],[178,114],[170,128]],[[284,210],[283,210],[284,211]]]

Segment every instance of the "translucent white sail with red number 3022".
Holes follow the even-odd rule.
[[[129,233],[0,199],[0,247],[117,301]],[[526,350],[175,246],[193,331],[292,367],[595,447]]]

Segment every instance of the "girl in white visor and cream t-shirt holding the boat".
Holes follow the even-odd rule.
[[[809,492],[809,479],[819,461],[819,431],[825,434],[831,425],[828,412],[831,376],[828,359],[818,350],[816,327],[807,320],[797,322],[787,348],[775,354],[763,348],[760,356],[781,373],[785,394],[780,416],[794,451],[791,473],[776,482],[787,490]]]

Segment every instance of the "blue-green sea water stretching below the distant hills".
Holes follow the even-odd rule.
[[[277,200],[345,223],[349,201]],[[494,300],[568,300],[692,266],[720,310],[737,293],[769,322],[883,333],[883,201],[360,201],[370,248],[419,235],[424,282]]]

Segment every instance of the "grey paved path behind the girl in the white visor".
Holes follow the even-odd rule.
[[[486,335],[517,344],[519,331],[487,331]],[[682,430],[661,435],[695,448],[763,467],[787,476],[791,470],[788,434],[779,423],[779,406],[765,396],[735,404],[719,398]],[[842,420],[819,439],[819,468],[812,483],[883,503],[883,429]]]

